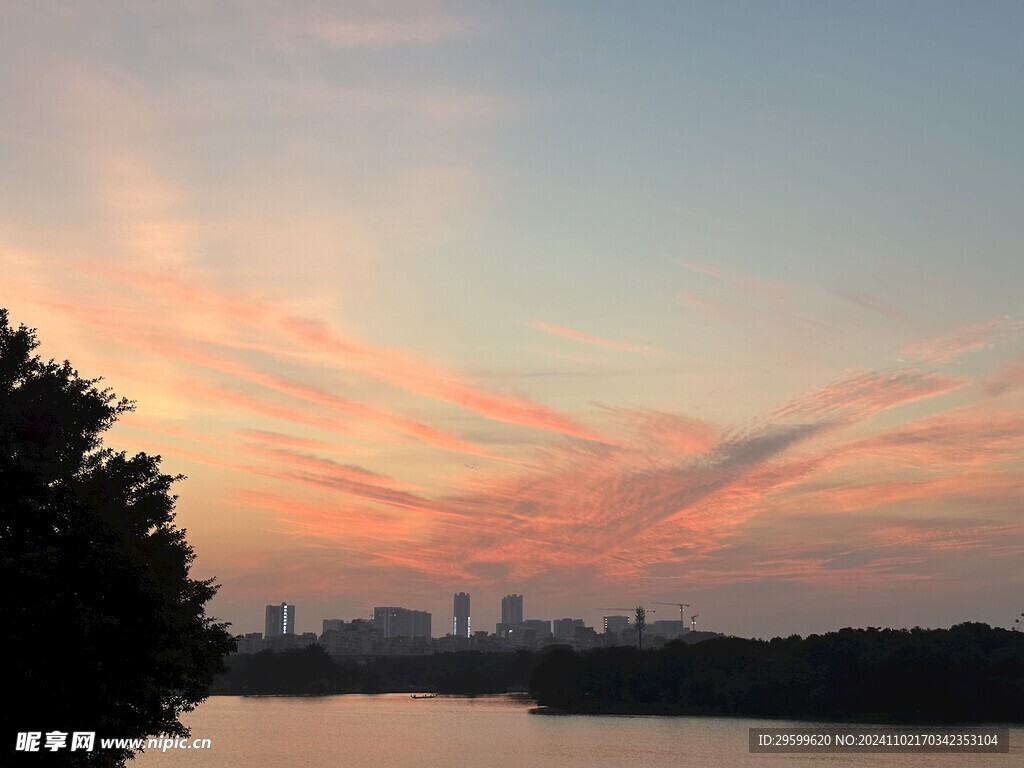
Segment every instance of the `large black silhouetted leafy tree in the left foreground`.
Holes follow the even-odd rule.
[[[205,613],[212,580],[174,525],[160,457],[114,453],[101,434],[133,406],[67,361],[44,362],[35,331],[0,309],[0,583],[4,765],[118,766],[104,736],[186,735],[234,641]],[[45,750],[45,734],[68,745]],[[94,731],[92,752],[70,750]],[[39,753],[16,733],[41,732]]]

